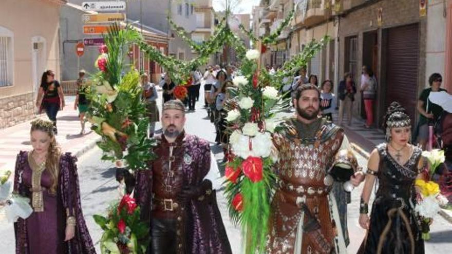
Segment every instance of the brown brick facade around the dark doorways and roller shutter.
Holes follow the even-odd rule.
[[[378,9],[382,8],[382,26],[378,27],[377,14]],[[428,14],[427,14],[428,15]],[[361,73],[361,66],[363,65],[363,34],[369,31],[377,31],[379,38],[379,69],[374,70],[379,77],[380,89],[385,86],[385,45],[384,45],[384,31],[387,28],[398,27],[408,24],[419,23],[419,65],[418,65],[418,92],[424,87],[425,69],[426,69],[426,31],[427,22],[425,17],[419,16],[419,0],[381,0],[374,1],[373,4],[361,5],[361,8],[349,10],[340,18],[339,37],[339,76],[342,76],[345,71],[345,38],[348,36],[357,36],[357,70],[356,73]],[[360,76],[355,77],[355,82],[360,85]],[[384,92],[384,90],[379,90]],[[379,100],[380,101],[380,100]],[[361,95],[357,94],[356,102],[361,102]],[[360,103],[354,103],[354,110],[356,116],[361,113]],[[378,102],[377,116],[379,117],[385,111],[383,103]],[[375,119],[377,120],[377,119]]]

